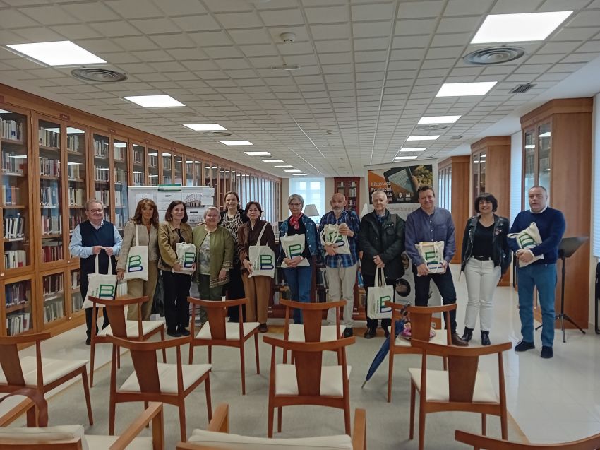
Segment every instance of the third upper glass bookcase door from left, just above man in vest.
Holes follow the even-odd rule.
[[[73,233],[75,227],[87,220],[85,202],[87,191],[87,167],[85,151],[85,131],[76,126],[66,127],[66,171],[68,189],[68,232]]]

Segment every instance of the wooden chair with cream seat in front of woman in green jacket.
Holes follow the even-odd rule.
[[[193,361],[193,350],[196,345],[208,346],[208,362],[212,364],[212,346],[222,345],[224,347],[239,348],[239,361],[241,365],[241,393],[246,394],[246,364],[244,344],[254,336],[254,351],[256,353],[256,373],[260,374],[260,362],[258,362],[258,322],[239,323],[227,321],[227,308],[239,307],[239,316],[242,317],[242,305],[248,303],[247,298],[227,300],[224,302],[210,302],[194,297],[188,297],[192,305],[192,320],[190,327],[190,357],[189,363]],[[208,321],[196,334],[196,307],[203,307],[208,315]]]

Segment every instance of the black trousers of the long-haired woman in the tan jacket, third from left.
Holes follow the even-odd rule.
[[[190,324],[190,295],[191,276],[186,273],[173,273],[162,271],[162,285],[164,288],[164,319],[167,321],[167,330],[175,331],[177,328],[187,328]]]

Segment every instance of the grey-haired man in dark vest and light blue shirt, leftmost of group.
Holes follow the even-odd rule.
[[[112,273],[116,273],[115,256],[121,250],[123,238],[116,227],[104,220],[104,205],[101,201],[88,200],[85,203],[85,213],[88,220],[80,223],[73,230],[71,243],[68,245],[71,255],[79,257],[81,272],[81,297],[85,300],[88,295],[88,275],[94,273],[96,258],[98,258],[98,271],[108,273],[108,264],[112,264]],[[85,309],[85,323],[88,325],[88,338],[86,345],[90,345],[92,336],[92,308]],[[104,314],[105,328],[109,324],[108,315]],[[98,328],[96,328],[96,332]]]

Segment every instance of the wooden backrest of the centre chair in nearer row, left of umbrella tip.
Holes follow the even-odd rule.
[[[299,396],[320,395],[321,369],[323,369],[323,352],[335,351],[338,354],[338,365],[342,366],[342,381],[344,392],[347,393],[348,374],[346,365],[347,345],[353,344],[354,337],[338,339],[327,342],[291,342],[284,339],[263,336],[263,342],[272,345],[271,352],[271,379],[275,375],[275,348],[281,347],[284,352],[292,350],[292,359],[296,369]]]

